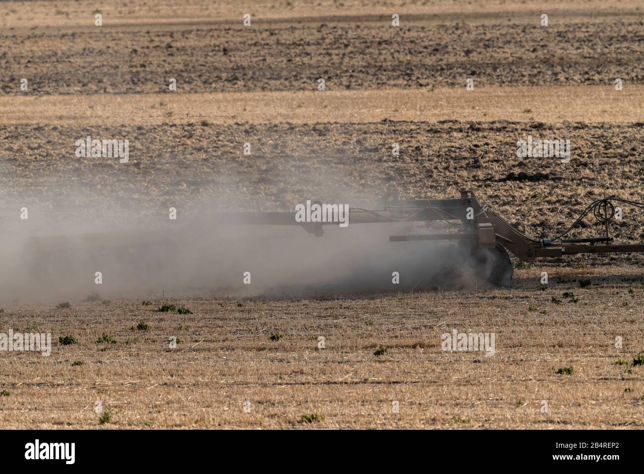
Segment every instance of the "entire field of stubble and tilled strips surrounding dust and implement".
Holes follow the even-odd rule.
[[[604,192],[644,201],[643,40],[638,1],[2,2],[0,237],[64,231],[70,214],[154,230],[169,206],[207,220],[204,203],[370,206],[392,189],[459,188],[552,234]],[[86,135],[128,139],[129,162],[77,158]],[[570,139],[571,162],[518,158],[527,135]],[[574,236],[598,232],[588,219]],[[612,232],[643,241],[641,212],[625,208]],[[337,299],[9,298],[0,332],[54,344],[50,357],[0,353],[0,427],[642,428],[643,262],[575,257],[518,269],[512,288]],[[156,311],[165,301],[193,314]],[[140,321],[149,330],[130,329]],[[451,330],[495,333],[496,354],[440,350]],[[68,334],[78,344],[59,345]],[[325,419],[298,422],[310,413]]]

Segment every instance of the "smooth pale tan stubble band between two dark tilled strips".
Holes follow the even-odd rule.
[[[180,90],[180,79],[178,82]],[[644,84],[0,96],[0,124],[644,122]]]

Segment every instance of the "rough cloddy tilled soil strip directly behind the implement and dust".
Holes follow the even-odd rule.
[[[86,135],[128,138],[129,162],[77,158]],[[516,141],[571,141],[571,161],[516,155]],[[457,197],[471,188],[531,237],[571,225],[603,193],[644,201],[644,124],[542,124],[442,121],[366,124],[189,124],[79,129],[0,128],[3,210],[29,202],[52,219],[70,206],[97,213],[129,208],[155,226],[168,206],[207,219],[210,210],[292,210],[306,199],[375,206],[401,195]],[[243,154],[251,143],[251,154]],[[392,144],[400,154],[392,154]],[[160,212],[160,210],[164,210]],[[575,236],[603,232],[594,218]],[[584,229],[585,228],[585,229]],[[623,241],[644,239],[639,210],[624,206],[612,226]],[[631,258],[641,261],[641,257]]]

